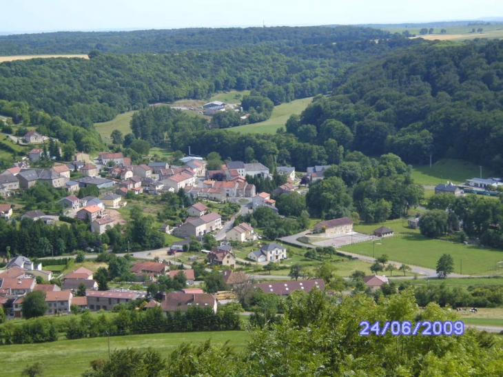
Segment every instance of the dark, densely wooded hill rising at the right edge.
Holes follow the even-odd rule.
[[[432,153],[501,170],[503,41],[413,45],[334,82],[333,96],[287,123],[300,141],[332,138],[370,156],[427,163]]]

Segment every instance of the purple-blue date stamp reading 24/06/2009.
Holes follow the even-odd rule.
[[[464,323],[461,320],[451,322],[446,320],[444,322],[435,320],[422,320],[415,325],[412,325],[409,320],[393,320],[381,323],[376,321],[372,325],[368,320],[360,322],[360,335],[386,335],[388,332],[391,335],[462,335],[464,334]]]

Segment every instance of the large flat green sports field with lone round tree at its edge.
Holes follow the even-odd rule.
[[[373,256],[375,249],[376,256],[388,254],[391,261],[431,269],[436,268],[442,254],[451,254],[456,274],[480,275],[503,272],[497,269],[497,263],[503,261],[503,253],[500,251],[434,240],[414,232],[384,238],[376,245],[371,242],[362,242],[346,245],[340,249],[365,256]]]

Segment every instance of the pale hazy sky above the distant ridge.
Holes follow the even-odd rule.
[[[0,14],[0,32],[16,33],[316,26],[503,17],[503,1],[1,0]]]

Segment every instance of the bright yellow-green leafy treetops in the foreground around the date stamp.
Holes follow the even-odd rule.
[[[254,329],[243,353],[209,340],[181,345],[166,359],[127,349],[94,360],[83,376],[501,376],[502,343],[475,329],[462,336],[360,336],[361,320],[456,319],[433,303],[418,312],[411,289],[379,303],[357,295],[336,306],[318,290],[297,291],[286,300],[283,320]]]

